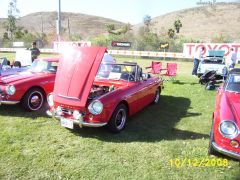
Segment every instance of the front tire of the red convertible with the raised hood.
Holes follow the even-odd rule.
[[[119,104],[114,110],[107,127],[111,132],[119,133],[125,128],[127,119],[128,110],[126,105]]]

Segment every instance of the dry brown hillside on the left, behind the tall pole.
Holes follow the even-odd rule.
[[[62,27],[66,34],[80,34],[83,39],[106,33],[106,24],[114,24],[117,28],[124,23],[98,16],[91,16],[80,13],[62,13]],[[37,12],[21,17],[17,25],[25,27],[31,33],[48,34],[56,31],[57,12]],[[5,19],[0,19],[0,24]],[[68,28],[69,21],[69,28]],[[42,28],[43,27],[43,28]],[[0,26],[0,35],[3,27]],[[2,36],[2,35],[1,35]]]

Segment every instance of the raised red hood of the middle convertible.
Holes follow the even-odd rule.
[[[75,47],[67,50],[59,62],[54,101],[67,106],[85,107],[105,52],[104,47]]]

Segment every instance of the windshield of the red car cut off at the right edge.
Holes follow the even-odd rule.
[[[226,81],[225,90],[240,93],[240,75],[239,74],[229,75]]]

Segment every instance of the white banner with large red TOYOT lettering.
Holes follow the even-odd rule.
[[[187,57],[193,57],[201,47],[205,47],[205,56],[208,50],[223,50],[225,51],[224,55],[227,56],[231,48],[240,56],[240,43],[184,43],[183,54]]]

